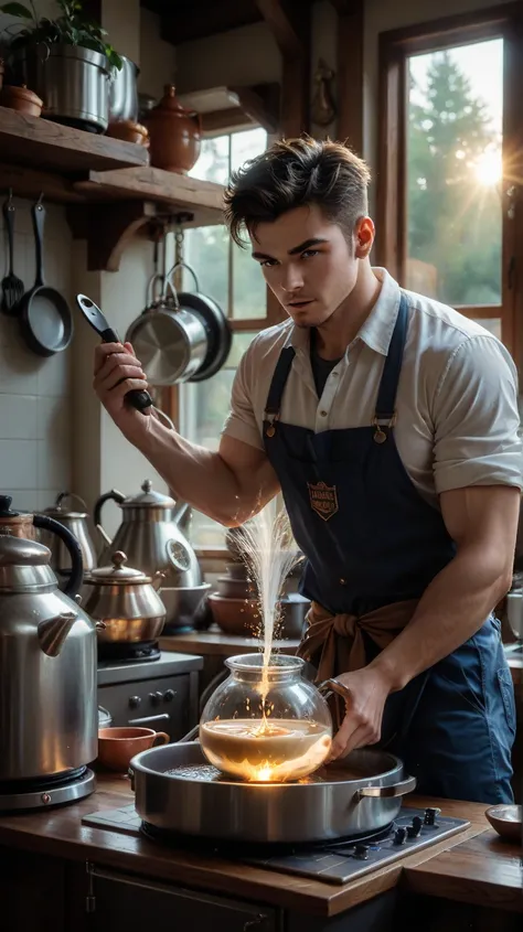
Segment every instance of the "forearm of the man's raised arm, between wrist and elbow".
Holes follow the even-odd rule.
[[[242,490],[218,453],[191,443],[156,417],[151,417],[148,432],[132,442],[177,497],[222,524],[237,522]]]

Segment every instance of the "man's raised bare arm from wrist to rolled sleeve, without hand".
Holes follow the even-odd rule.
[[[151,418],[136,446],[177,497],[227,527],[243,524],[279,491],[264,451],[226,433],[211,452]]]

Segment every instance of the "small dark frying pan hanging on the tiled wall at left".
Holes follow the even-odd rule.
[[[36,246],[36,279],[20,301],[18,320],[25,343],[39,356],[52,356],[66,350],[73,339],[73,317],[67,301],[44,282],[43,233],[45,210],[42,195],[31,208]]]

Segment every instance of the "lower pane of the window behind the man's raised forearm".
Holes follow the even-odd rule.
[[[180,429],[184,437],[217,450],[220,435],[231,407],[231,390],[239,360],[253,340],[254,333],[235,333],[225,366],[206,382],[180,386]],[[225,528],[200,512],[193,512],[191,540],[205,547],[223,547]]]

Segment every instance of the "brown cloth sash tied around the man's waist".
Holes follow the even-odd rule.
[[[318,683],[361,669],[367,663],[363,632],[383,651],[407,626],[417,604],[417,599],[408,599],[355,615],[331,614],[312,602],[298,656],[314,664]]]

